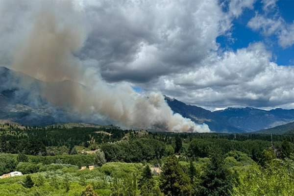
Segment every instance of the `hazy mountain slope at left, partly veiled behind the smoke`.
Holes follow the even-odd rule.
[[[21,83],[29,85],[26,88]],[[79,121],[74,114],[57,109],[41,97],[43,83],[0,67],[0,119],[37,126]]]

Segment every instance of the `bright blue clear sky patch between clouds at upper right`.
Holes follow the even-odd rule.
[[[272,52],[272,61],[278,65],[294,65],[294,46],[283,48],[279,46],[275,35],[264,36],[258,31],[248,27],[248,22],[256,13],[267,15],[269,18],[281,17],[285,23],[292,24],[294,21],[294,0],[279,0],[269,13],[263,10],[263,1],[258,0],[253,4],[254,8],[246,8],[239,18],[232,21],[231,37],[221,35],[217,42],[223,49],[237,50],[247,47],[250,43],[263,42],[267,49]]]

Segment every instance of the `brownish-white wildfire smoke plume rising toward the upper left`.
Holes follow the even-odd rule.
[[[31,25],[13,54],[10,66],[44,82],[42,97],[83,116],[100,114],[121,125],[160,127],[168,131],[209,132],[173,114],[160,93],[138,95],[129,83],[108,84],[91,60],[78,51],[87,39],[82,8],[71,1],[34,1]]]

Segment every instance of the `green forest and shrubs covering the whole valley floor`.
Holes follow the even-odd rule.
[[[294,135],[0,125],[1,196],[289,196]],[[94,167],[93,167],[94,166]]]

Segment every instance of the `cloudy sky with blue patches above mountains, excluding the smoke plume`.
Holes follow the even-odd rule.
[[[33,26],[37,1],[3,2],[0,64],[9,67]],[[210,110],[294,108],[292,0],[73,4],[70,18],[56,17],[57,27],[75,26],[81,42],[71,54],[109,85],[127,83],[138,94],[160,92]]]

